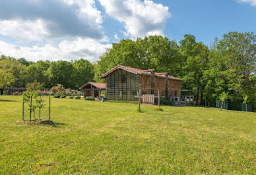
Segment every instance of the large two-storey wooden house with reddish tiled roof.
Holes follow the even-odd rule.
[[[181,95],[181,79],[154,69],[117,65],[100,77],[106,79],[106,98],[110,100],[137,101],[139,95],[158,97],[159,90],[160,96],[166,99]]]

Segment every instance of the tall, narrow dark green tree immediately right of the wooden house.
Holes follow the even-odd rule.
[[[208,69],[209,49],[203,43],[197,43],[192,35],[185,35],[180,43],[183,88],[192,89],[196,104],[201,105],[205,94],[206,81],[203,78]]]

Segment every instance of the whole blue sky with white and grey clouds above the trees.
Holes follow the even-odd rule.
[[[210,46],[228,32],[256,33],[256,0],[1,0],[0,55],[97,61],[121,39],[150,35]]]

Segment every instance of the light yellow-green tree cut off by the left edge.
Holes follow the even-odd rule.
[[[0,69],[0,88],[4,90],[7,89],[13,82],[15,82],[15,76],[7,70]]]

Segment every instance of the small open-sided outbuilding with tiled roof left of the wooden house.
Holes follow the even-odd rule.
[[[100,93],[102,92],[102,90],[106,90],[106,84],[88,82],[87,84],[81,86],[79,89],[82,89],[84,91],[84,97],[100,97]]]

